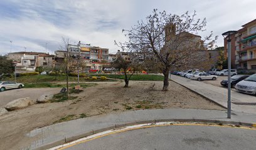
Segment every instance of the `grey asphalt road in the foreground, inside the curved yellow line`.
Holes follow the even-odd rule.
[[[256,130],[224,126],[161,126],[110,134],[77,149],[255,149]]]

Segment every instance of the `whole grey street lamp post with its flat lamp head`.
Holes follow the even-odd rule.
[[[231,39],[230,39],[230,35],[235,33],[237,31],[227,31],[224,32],[222,34],[222,36],[224,38],[228,38],[227,42],[228,42],[228,118],[231,118],[231,82],[230,82],[230,78],[231,78]]]

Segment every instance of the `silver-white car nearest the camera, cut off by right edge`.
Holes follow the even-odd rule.
[[[256,95],[256,74],[252,74],[248,78],[237,83],[235,89],[242,93]]]

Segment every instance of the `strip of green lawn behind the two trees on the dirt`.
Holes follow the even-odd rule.
[[[112,79],[124,79],[123,74],[94,74],[93,76],[105,76]],[[128,75],[129,78],[129,75]],[[131,80],[137,81],[163,81],[164,76],[154,74],[133,74]]]

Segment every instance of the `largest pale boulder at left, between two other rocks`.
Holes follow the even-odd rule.
[[[8,111],[13,111],[15,109],[25,108],[31,104],[33,104],[33,101],[30,98],[19,98],[6,104],[4,108],[6,108]]]

